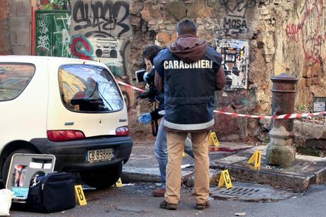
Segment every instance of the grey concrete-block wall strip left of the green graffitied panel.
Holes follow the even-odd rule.
[[[13,55],[30,55],[30,20],[29,0],[9,1],[9,30]]]

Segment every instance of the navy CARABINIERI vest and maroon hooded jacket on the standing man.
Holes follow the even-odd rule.
[[[154,58],[155,86],[164,92],[167,130],[205,131],[214,125],[215,91],[226,82],[221,61],[220,53],[187,28]]]

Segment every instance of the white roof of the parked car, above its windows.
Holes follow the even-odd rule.
[[[0,55],[0,62],[35,62],[35,61],[55,61],[67,63],[81,63],[81,64],[93,64],[93,65],[103,65],[100,62],[92,60],[83,60],[77,58],[69,57],[42,57],[42,56],[30,56],[30,55]]]

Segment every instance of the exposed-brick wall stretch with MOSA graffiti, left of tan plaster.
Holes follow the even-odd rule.
[[[248,88],[218,92],[217,109],[235,113],[269,113],[270,77],[274,73],[274,38],[270,36],[274,30],[270,30],[270,26],[274,25],[274,21],[263,6],[264,3],[249,0],[241,3],[133,1],[130,5],[134,28],[133,65],[135,68],[141,66],[140,48],[148,43],[170,45],[176,39],[176,23],[183,18],[191,18],[198,24],[198,36],[213,47],[217,39],[250,40]],[[215,130],[221,140],[254,140],[255,137],[260,140],[262,137],[257,120],[216,115],[215,121]]]

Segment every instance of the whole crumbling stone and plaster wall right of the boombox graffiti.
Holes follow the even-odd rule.
[[[317,0],[189,0],[130,2],[134,30],[133,69],[142,67],[145,45],[168,46],[176,39],[178,21],[190,18],[198,35],[215,40],[249,40],[247,89],[217,94],[217,109],[235,113],[271,113],[271,77],[281,72],[298,77],[296,105],[325,96],[325,1]],[[221,140],[268,140],[269,121],[217,115]]]

